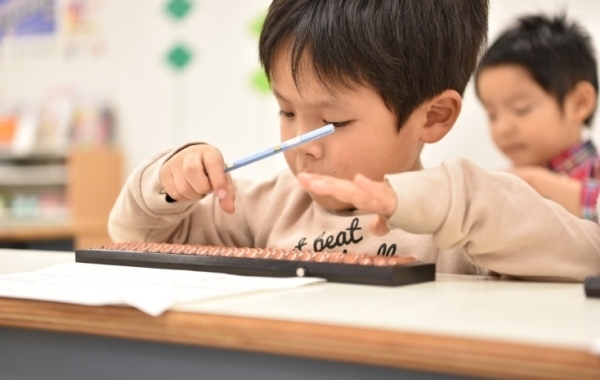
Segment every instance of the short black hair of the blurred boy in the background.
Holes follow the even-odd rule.
[[[533,80],[562,107],[565,96],[581,81],[598,93],[598,73],[592,39],[585,29],[556,16],[526,15],[506,29],[481,58],[475,81],[487,67],[516,64],[529,71]],[[477,94],[479,96],[479,94]],[[594,111],[585,120],[590,125]]]

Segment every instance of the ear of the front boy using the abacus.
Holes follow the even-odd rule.
[[[455,90],[445,90],[424,104],[426,121],[421,141],[434,143],[446,136],[460,115],[462,97]]]

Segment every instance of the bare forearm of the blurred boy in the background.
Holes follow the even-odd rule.
[[[572,214],[582,217],[581,181],[552,172],[541,166],[517,166],[510,170],[543,197],[559,203]]]

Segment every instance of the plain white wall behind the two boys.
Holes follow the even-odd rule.
[[[64,0],[63,0],[64,1]],[[154,152],[189,140],[204,140],[235,159],[278,141],[277,105],[249,85],[258,66],[250,25],[269,0],[195,1],[188,19],[164,16],[163,0],[97,0],[104,6],[100,58],[68,59],[57,52],[38,59],[0,59],[0,102],[40,97],[50,87],[75,84],[106,93],[117,106],[119,138],[128,171]],[[567,9],[600,41],[600,2],[589,0],[492,0],[490,41],[524,12]],[[168,47],[185,41],[194,63],[174,73],[164,63]],[[484,167],[507,162],[493,146],[487,120],[469,86],[463,112],[450,134],[426,147],[426,166],[465,156]],[[240,169],[245,177],[268,177],[284,167],[282,157]]]

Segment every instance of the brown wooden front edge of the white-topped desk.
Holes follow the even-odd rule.
[[[260,318],[0,298],[0,326],[488,378],[600,378],[600,357],[585,351]]]

